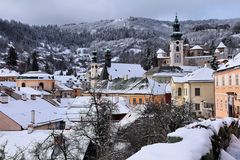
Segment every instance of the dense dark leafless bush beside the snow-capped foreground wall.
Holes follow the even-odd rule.
[[[125,143],[127,147],[117,153],[116,159],[126,159],[145,145],[166,142],[168,133],[194,120],[190,108],[190,104],[180,107],[146,104],[140,118],[127,128],[119,130],[117,141]]]

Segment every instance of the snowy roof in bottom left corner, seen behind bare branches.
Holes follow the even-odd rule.
[[[52,140],[54,142],[52,134],[63,134],[66,139],[72,138],[74,135],[73,130],[64,130],[64,131],[52,131],[52,130],[34,130],[31,134],[28,134],[27,130],[23,131],[0,131],[0,144],[6,144],[6,156],[13,157],[21,151],[24,153],[25,159],[33,159],[33,154],[31,153],[34,147],[37,146],[37,143],[44,143],[46,139]],[[87,150],[89,139],[84,136],[75,137],[78,140],[78,145],[81,146],[80,150],[76,151],[76,145],[70,145],[69,151],[72,156],[77,156],[80,159],[84,158],[85,152]],[[19,150],[20,149],[20,150]],[[77,155],[76,155],[77,154]],[[47,155],[51,157],[51,152],[48,152]]]

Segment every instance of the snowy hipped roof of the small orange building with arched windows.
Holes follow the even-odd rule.
[[[18,79],[54,79],[53,75],[42,71],[29,71],[27,73],[21,74]]]

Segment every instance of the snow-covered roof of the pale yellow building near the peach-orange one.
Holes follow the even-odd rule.
[[[203,67],[200,68],[192,73],[187,74],[184,77],[172,77],[174,82],[183,83],[183,82],[190,82],[190,81],[213,81],[213,72],[214,70]]]

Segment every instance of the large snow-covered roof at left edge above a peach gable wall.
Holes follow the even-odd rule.
[[[63,119],[65,109],[57,108],[42,98],[36,100],[13,100],[0,104],[0,111],[16,121],[23,128],[27,128],[31,122],[31,111],[35,110],[36,125]]]

